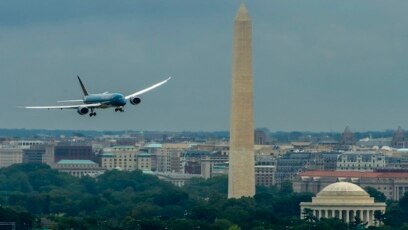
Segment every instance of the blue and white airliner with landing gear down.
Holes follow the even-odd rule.
[[[64,100],[64,101],[57,101],[59,103],[72,103],[72,102],[82,102],[82,104],[77,104],[77,105],[62,105],[62,106],[25,106],[24,108],[26,109],[76,109],[78,114],[80,115],[86,115],[89,112],[89,116],[96,116],[96,112],[94,112],[95,109],[106,109],[106,108],[115,108],[115,112],[124,112],[124,106],[126,105],[127,100],[129,100],[130,104],[132,105],[137,105],[142,102],[140,99],[140,95],[155,89],[164,83],[166,83],[168,80],[171,79],[171,77],[167,78],[164,81],[158,82],[150,87],[147,87],[145,89],[142,89],[140,91],[137,91],[135,93],[129,94],[127,96],[124,96],[121,93],[98,93],[98,94],[89,94],[88,91],[86,90],[84,84],[81,81],[81,78],[79,76],[79,84],[81,85],[82,92],[84,93],[83,99],[79,100]]]

